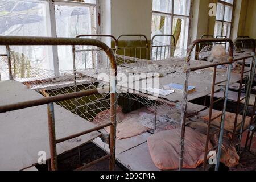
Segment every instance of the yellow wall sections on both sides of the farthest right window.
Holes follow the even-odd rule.
[[[250,36],[256,39],[256,0],[235,0],[231,39]],[[191,19],[191,41],[201,35],[213,35],[216,17],[210,17],[209,3],[217,0],[194,0]]]

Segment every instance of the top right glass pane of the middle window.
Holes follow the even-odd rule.
[[[174,14],[189,16],[190,0],[174,0]]]

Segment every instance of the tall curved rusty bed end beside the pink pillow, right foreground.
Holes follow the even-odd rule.
[[[220,42],[229,42],[229,59],[228,61],[224,63],[218,63],[218,64],[209,64],[205,66],[200,66],[200,67],[195,67],[195,68],[189,68],[190,67],[190,60],[191,60],[191,53],[193,48],[196,47],[197,44],[200,43],[220,43]],[[209,146],[209,138],[210,138],[210,128],[211,128],[211,122],[214,121],[215,119],[221,117],[221,126],[218,129],[218,132],[220,132],[219,135],[219,140],[218,140],[218,145],[213,147],[218,149],[217,153],[217,165],[216,165],[216,170],[218,170],[219,163],[220,163],[220,155],[221,155],[221,144],[222,144],[222,138],[223,138],[223,132],[224,132],[224,120],[225,120],[225,112],[226,112],[226,103],[228,100],[228,90],[229,90],[229,81],[230,81],[230,73],[231,73],[231,67],[233,63],[233,42],[231,39],[197,39],[195,40],[191,46],[189,46],[187,50],[187,68],[185,68],[185,74],[186,74],[186,79],[184,82],[184,94],[183,94],[183,100],[187,101],[188,98],[188,78],[189,78],[189,71],[195,71],[198,69],[204,69],[204,68],[210,68],[214,67],[214,72],[213,72],[213,81],[212,81],[212,91],[210,94],[210,107],[209,107],[209,122],[208,122],[208,129],[207,129],[207,141],[205,143],[205,152],[204,152],[204,169],[206,169],[207,166],[207,156],[208,156],[208,146]],[[216,103],[217,101],[214,101],[214,88],[217,84],[216,82],[216,75],[217,75],[217,65],[224,65],[228,64],[228,71],[227,71],[227,79],[225,81],[222,81],[222,83],[226,82],[225,86],[225,95],[223,98],[221,98],[218,101],[224,100],[224,107],[222,110],[222,114],[219,115],[217,118],[212,118],[212,110],[213,110],[213,104]],[[187,113],[187,102],[184,102],[182,106],[182,114],[181,114],[181,131],[180,131],[180,159],[179,159],[179,170],[182,169],[183,167],[183,156],[184,156],[184,142],[185,142],[185,123],[186,123],[186,113]],[[213,149],[211,149],[213,150]],[[211,151],[210,150],[210,151]]]

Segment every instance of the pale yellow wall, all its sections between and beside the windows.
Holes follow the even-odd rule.
[[[105,1],[105,0],[102,0]],[[109,0],[110,1],[110,0]],[[216,17],[209,17],[209,3],[218,0],[192,0],[189,42],[201,35],[213,35]],[[256,0],[235,0],[231,38],[250,36],[256,39]],[[151,38],[152,0],[111,0],[111,18],[105,26],[110,34],[144,34]]]

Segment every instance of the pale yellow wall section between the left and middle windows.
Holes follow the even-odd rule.
[[[151,38],[151,0],[112,0],[112,35],[144,34]]]

